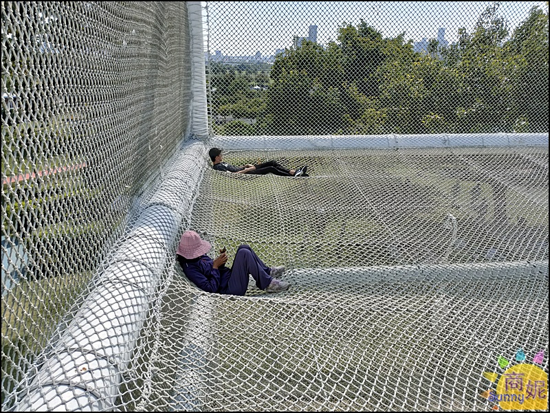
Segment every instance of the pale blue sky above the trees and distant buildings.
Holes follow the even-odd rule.
[[[458,30],[472,31],[492,1],[209,1],[203,4],[208,19],[210,53],[263,56],[292,45],[294,36],[307,36],[309,25],[318,26],[317,42],[336,41],[342,23],[366,21],[384,37],[405,32],[405,40],[436,38],[445,27],[445,40],[456,41]],[[206,7],[208,5],[208,7]],[[527,18],[533,5],[547,11],[546,1],[502,1],[499,14],[513,30]],[[206,25],[205,25],[206,27]],[[205,28],[206,30],[206,28]],[[205,36],[206,42],[206,36]],[[207,45],[205,45],[206,49]]]

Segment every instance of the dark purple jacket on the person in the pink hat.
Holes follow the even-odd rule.
[[[227,289],[231,269],[225,266],[218,269],[212,268],[214,260],[206,254],[192,260],[177,255],[177,261],[181,265],[181,269],[184,270],[186,277],[199,289],[208,293],[221,293],[221,291]]]

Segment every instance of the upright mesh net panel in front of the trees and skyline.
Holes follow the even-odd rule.
[[[209,2],[212,131],[547,132],[547,16],[527,1]]]

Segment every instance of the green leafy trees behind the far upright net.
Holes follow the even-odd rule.
[[[428,53],[361,20],[325,46],[286,49],[271,71],[212,71],[212,107],[255,118],[250,134],[547,132],[548,54],[538,7],[511,33],[495,3],[472,32],[448,47],[432,39]]]

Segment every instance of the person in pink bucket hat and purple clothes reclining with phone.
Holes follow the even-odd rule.
[[[286,281],[274,278],[285,271],[279,267],[267,267],[248,245],[237,249],[231,268],[225,267],[228,254],[225,248],[214,260],[206,253],[212,245],[201,239],[195,231],[186,231],[179,240],[177,260],[184,274],[199,289],[208,293],[245,295],[248,274],[256,280],[256,286],[267,293],[278,293],[290,287]]]

